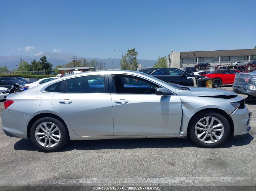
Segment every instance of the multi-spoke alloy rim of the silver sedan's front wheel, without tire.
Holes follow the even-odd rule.
[[[195,135],[203,143],[216,143],[223,137],[223,133],[224,126],[215,117],[204,117],[195,125]]]

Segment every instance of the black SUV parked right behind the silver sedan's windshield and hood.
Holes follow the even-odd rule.
[[[198,76],[191,75],[178,68],[151,68],[147,74],[154,76],[155,78],[158,78],[162,81],[170,82],[173,84],[180,84],[183,86],[194,86],[192,77],[198,78]],[[203,76],[200,77],[204,78]]]

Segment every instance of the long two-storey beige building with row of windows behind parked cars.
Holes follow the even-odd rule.
[[[244,63],[256,60],[256,49],[212,50],[194,52],[171,52],[168,55],[168,67],[192,67],[205,62],[211,65],[231,64],[237,61]]]

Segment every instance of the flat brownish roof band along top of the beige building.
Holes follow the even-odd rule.
[[[218,56],[249,56],[249,55],[256,55],[256,49],[180,52],[181,58],[197,58],[197,57],[200,58],[200,57],[218,57]]]

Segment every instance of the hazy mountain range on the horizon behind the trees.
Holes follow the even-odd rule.
[[[6,65],[9,69],[15,69],[17,68],[20,58],[22,58],[24,61],[31,63],[34,59],[35,60],[40,60],[42,56],[46,56],[47,61],[50,62],[53,65],[53,68],[55,68],[57,65],[64,65],[67,64],[71,61],[71,56],[74,54],[59,54],[59,53],[43,53],[39,56],[0,56],[0,67]],[[74,55],[75,56],[75,55]],[[81,59],[82,56],[77,56],[77,59]],[[106,68],[112,68],[112,59],[99,59],[99,58],[86,58],[87,61],[91,60],[96,60],[102,63],[105,63]],[[118,58],[113,59],[113,67],[114,68],[120,68],[120,60]],[[138,59],[138,63],[142,65],[142,67],[152,67],[156,61],[155,60],[143,60],[143,59]],[[104,64],[103,64],[104,66]]]

